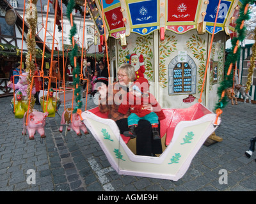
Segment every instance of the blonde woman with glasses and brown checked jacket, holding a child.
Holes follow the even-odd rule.
[[[108,112],[108,118],[115,120],[120,133],[129,131],[127,117],[130,112],[123,114],[118,112],[118,107],[129,91],[129,85],[132,85],[135,78],[134,67],[131,64],[122,64],[117,70],[118,82],[105,84],[97,87],[99,97],[100,112]],[[151,105],[144,105],[144,108],[151,110]],[[158,129],[160,132],[160,127]],[[140,120],[136,133],[136,154],[143,156],[155,156],[162,153],[161,140],[153,140],[152,126],[148,120]]]

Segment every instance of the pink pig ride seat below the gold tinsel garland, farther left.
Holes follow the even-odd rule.
[[[41,138],[45,138],[44,126],[45,120],[48,116],[48,112],[31,112],[28,114],[28,126],[26,126],[26,115],[23,117],[23,131],[22,135],[26,135],[28,129],[29,140],[34,140],[34,135],[36,131],[40,134]]]

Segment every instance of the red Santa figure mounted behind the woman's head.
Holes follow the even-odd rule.
[[[131,54],[129,63],[134,66],[136,80],[140,77],[144,78],[145,65],[143,55],[140,55],[140,57],[138,57],[138,55],[136,54]]]

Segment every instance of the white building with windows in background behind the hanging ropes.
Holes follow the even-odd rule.
[[[9,0],[10,4],[13,5],[13,8],[17,10],[17,12],[23,17],[23,8],[24,2],[17,0]],[[62,31],[58,31],[58,26],[54,24],[54,14],[55,9],[51,3],[49,3],[49,15],[47,17],[47,0],[38,1],[36,8],[38,11],[38,26],[37,26],[37,34],[38,36],[44,40],[45,44],[52,49],[52,39],[54,36],[54,49],[55,50],[63,50],[64,45],[72,45],[72,42],[69,40],[71,25],[66,16],[67,8],[65,4],[62,4],[62,18],[61,22]],[[17,7],[14,7],[17,6]],[[59,3],[61,8],[61,4]],[[77,25],[77,33],[75,35],[76,43],[82,47],[83,45],[83,30],[84,30],[84,48],[88,48],[92,45],[94,40],[94,30],[93,30],[93,21],[90,19],[89,15],[86,15],[85,23],[83,22],[83,13],[79,11],[72,11],[74,24]],[[46,28],[46,20],[47,20],[47,28]],[[83,25],[84,24],[84,25]],[[54,27],[55,27],[55,35],[54,35]],[[46,36],[45,36],[46,30]],[[63,37],[62,37],[63,36]]]

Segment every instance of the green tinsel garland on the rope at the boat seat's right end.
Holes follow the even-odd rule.
[[[244,0],[243,5],[240,8],[239,18],[237,18],[236,20],[237,37],[231,40],[232,48],[231,48],[231,52],[227,55],[227,59],[225,61],[224,80],[223,82],[221,82],[220,87],[218,87],[217,94],[220,99],[218,103],[216,103],[215,110],[217,110],[218,108],[221,108],[221,109],[224,108],[228,103],[226,94],[223,98],[221,97],[221,94],[223,91],[225,91],[225,89],[233,86],[233,70],[231,71],[230,75],[227,75],[227,72],[230,64],[232,63],[233,65],[235,65],[239,57],[239,53],[240,53],[239,47],[237,48],[237,51],[234,54],[234,48],[236,47],[237,40],[243,41],[245,38],[246,27],[243,26],[242,29],[240,29],[240,27],[241,27],[241,24],[243,24],[243,21],[250,19],[250,12],[247,11],[244,14],[244,8],[246,7],[246,4],[253,4],[253,3],[255,3],[255,0]]]

